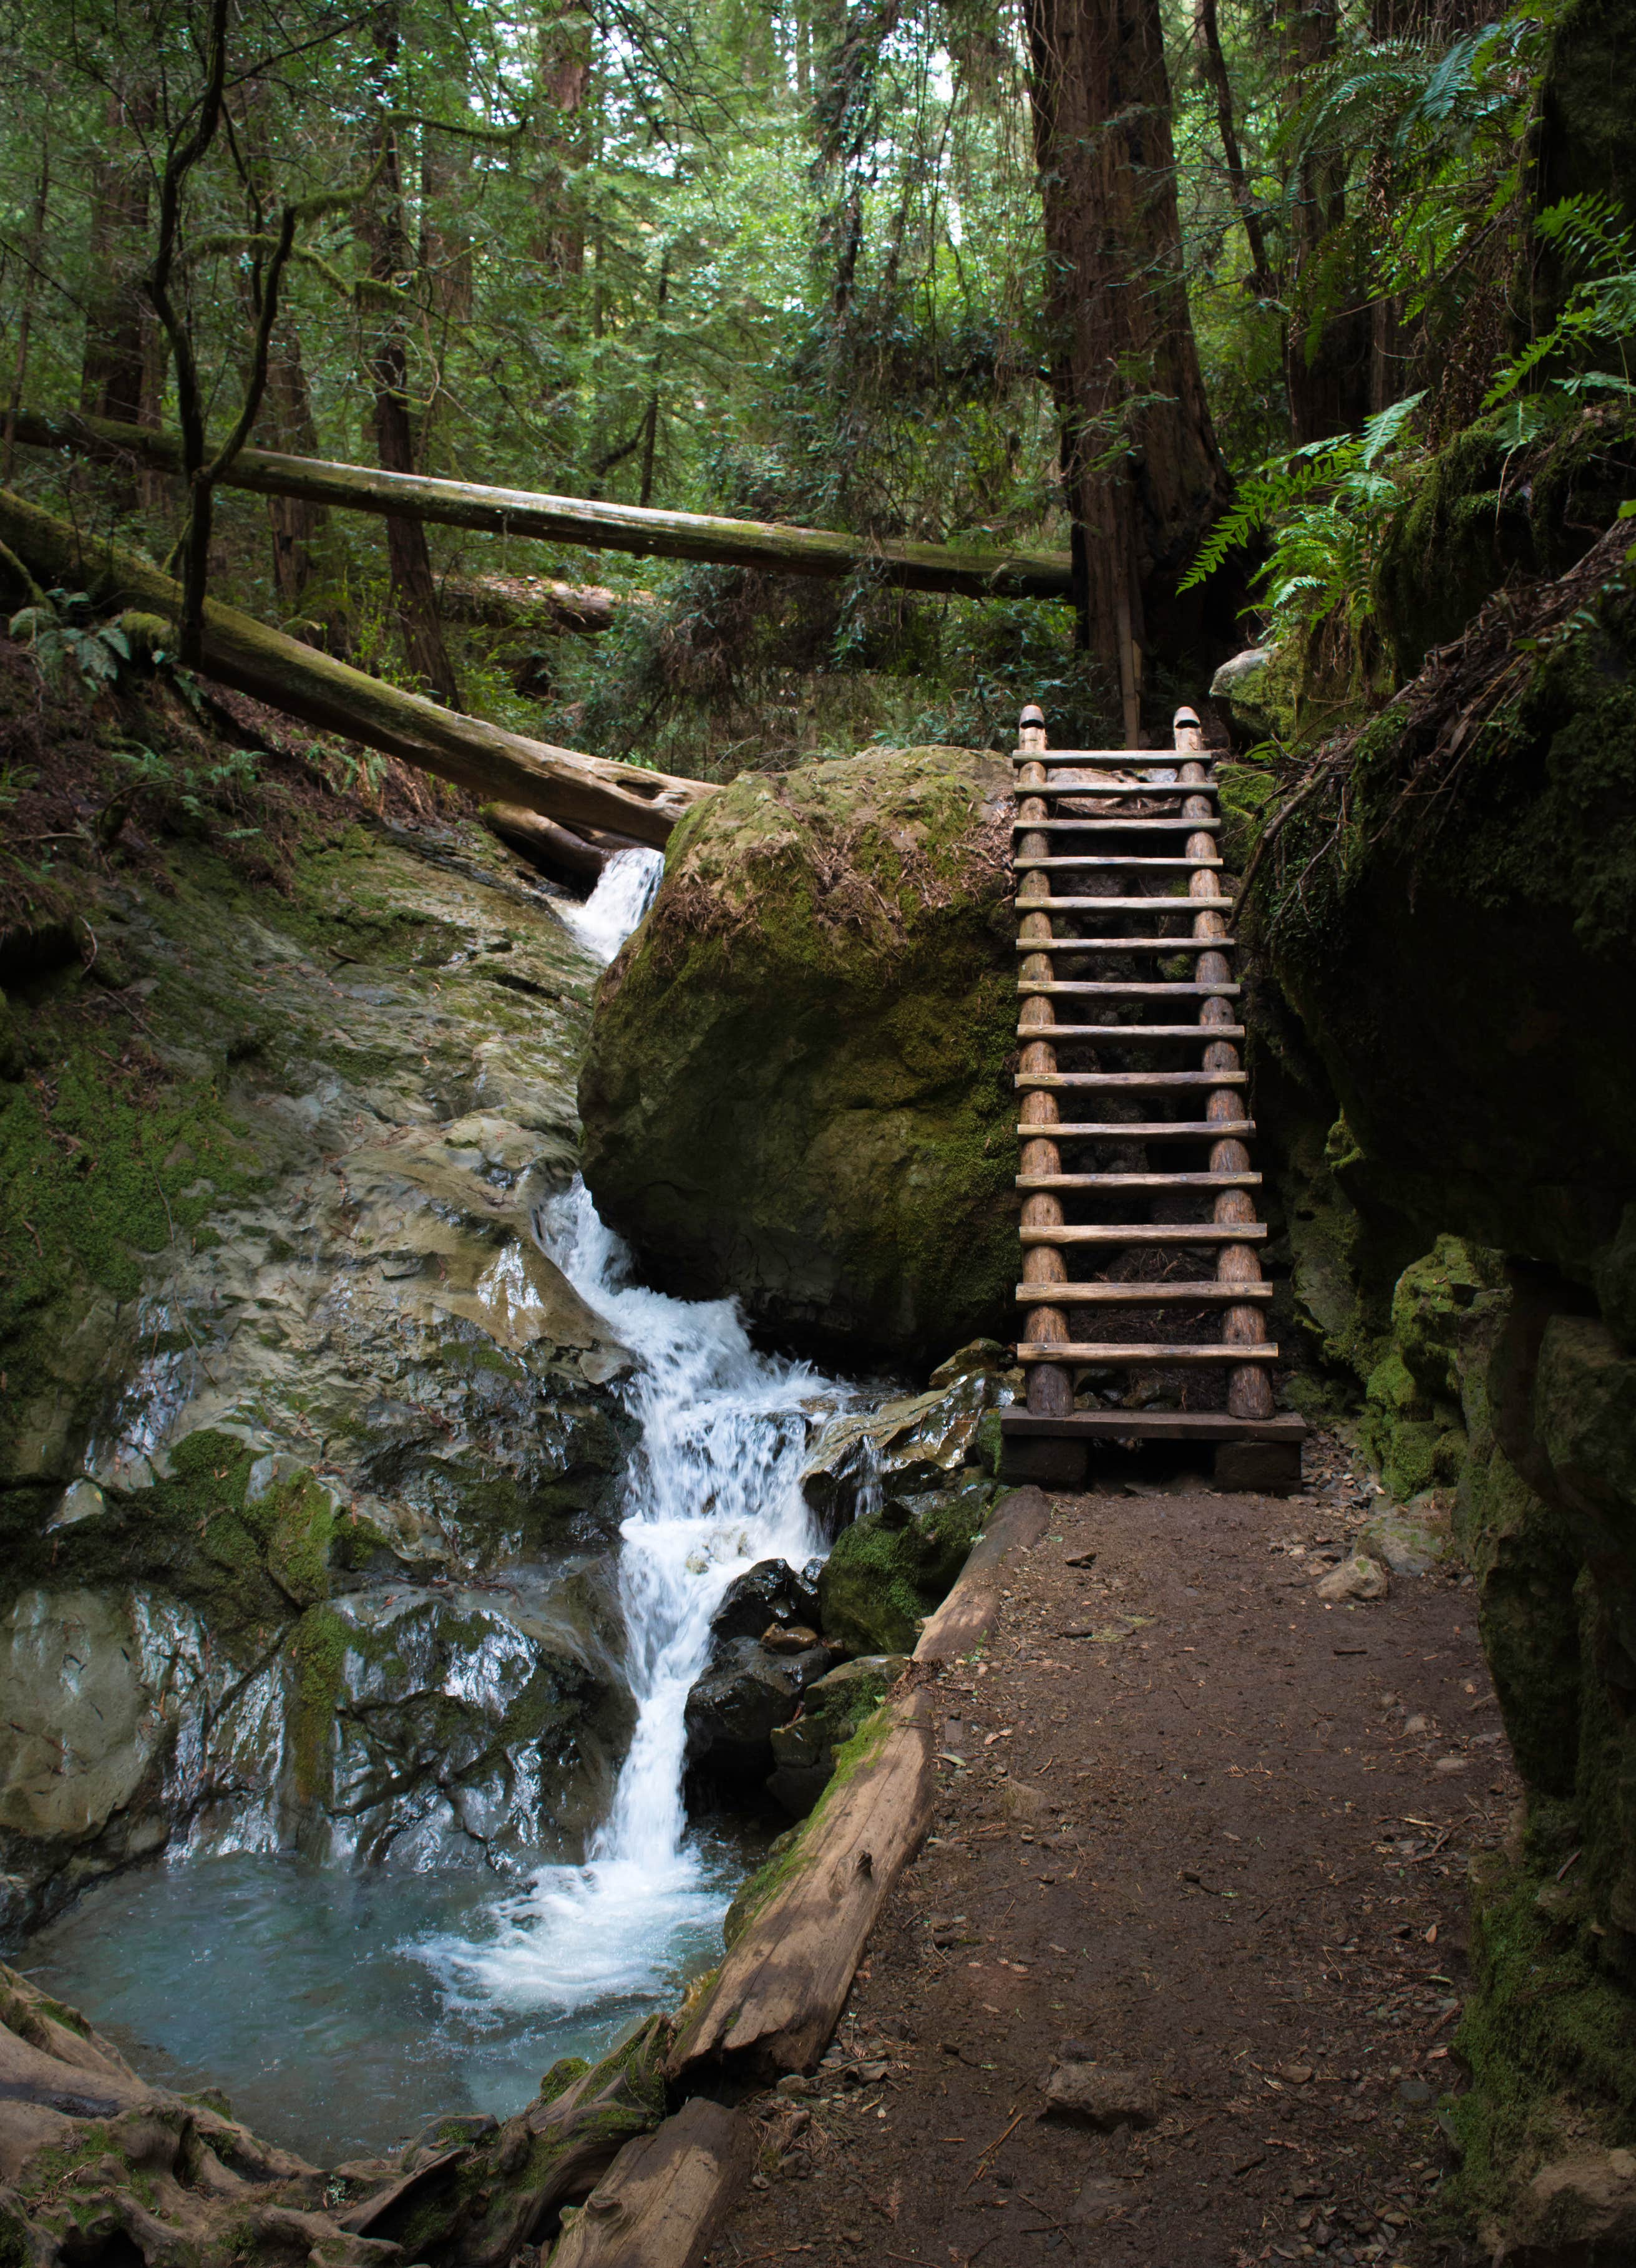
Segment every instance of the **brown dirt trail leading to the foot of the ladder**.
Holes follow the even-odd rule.
[[[1284,1501],[1057,1499],[942,1678],[935,1839],[828,2066],[751,2105],[722,2268],[1448,2257],[1466,1857],[1518,1783],[1468,1583],[1314,1597],[1364,1513],[1316,1463]],[[1135,2118],[1042,2116],[1062,2055]]]

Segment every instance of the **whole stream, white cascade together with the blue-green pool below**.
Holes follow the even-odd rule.
[[[570,925],[610,959],[660,862],[610,862]],[[91,1889],[25,1971],[179,2087],[222,2087],[252,2127],[313,2159],[377,2152],[436,2116],[506,2114],[560,2055],[599,2055],[722,1950],[756,1839],[690,1828],[683,1703],[710,1617],[756,1560],[801,1567],[812,1417],[858,1399],[758,1354],[733,1302],[633,1279],[583,1184],[545,1202],[545,1252],[642,1356],[626,1386],[619,1603],[635,1733],[581,1864],[349,1873],[265,1853],[172,1857]]]

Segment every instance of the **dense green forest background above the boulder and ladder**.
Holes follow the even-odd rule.
[[[1380,558],[1434,451],[1625,420],[1625,14],[7,0],[0,479],[667,771],[1003,744],[1026,699],[1162,726],[1266,635],[1334,721],[1414,649]],[[29,413],[182,433],[193,481]],[[241,445],[1071,549],[1076,603],[327,515],[218,485]]]

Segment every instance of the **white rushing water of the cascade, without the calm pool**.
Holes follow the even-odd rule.
[[[608,862],[574,928],[613,959],[642,919],[663,860]],[[642,1359],[626,1388],[640,1447],[626,1481],[619,1601],[638,1719],[608,1819],[583,1867],[542,1867],[481,1939],[413,1950],[467,2007],[617,2007],[672,1984],[712,1950],[733,1873],[688,1833],[688,1690],[728,1583],[758,1560],[801,1567],[819,1535],[801,1497],[808,1417],[853,1390],[806,1363],[758,1354],[731,1300],[685,1302],[631,1279],[631,1261],[581,1182],[538,1216],[540,1243]]]

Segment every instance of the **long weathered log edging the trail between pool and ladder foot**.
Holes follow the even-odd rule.
[[[996,1506],[983,1542],[914,1649],[917,1667],[971,1651],[994,1624],[998,1574],[1044,1533],[1046,1497],[1019,1488]],[[910,1678],[914,1672],[910,1672]],[[892,1887],[919,1851],[937,1796],[937,1696],[903,1681],[849,1744],[794,1848],[728,1950],[715,1984],[683,2021],[665,2075],[699,2087],[710,2068],[756,2080],[812,2071],[851,1991],[862,1948]]]

